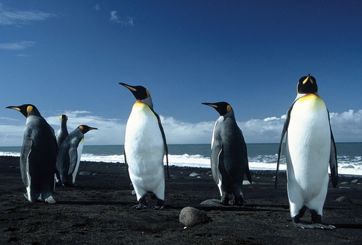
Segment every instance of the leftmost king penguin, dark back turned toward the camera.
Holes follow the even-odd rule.
[[[25,115],[23,146],[21,147],[21,177],[30,202],[37,200],[55,203],[54,173],[57,159],[57,140],[53,128],[33,105],[8,106]]]

